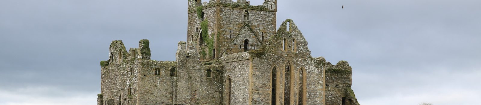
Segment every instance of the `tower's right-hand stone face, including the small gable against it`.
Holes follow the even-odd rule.
[[[274,4],[274,3],[273,3]],[[259,48],[276,34],[276,12],[226,3],[219,6],[219,34],[216,49],[220,56],[244,52],[244,40],[248,49]],[[247,15],[247,17],[245,17]]]

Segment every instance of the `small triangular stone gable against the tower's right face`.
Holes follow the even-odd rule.
[[[262,47],[262,43],[259,37],[254,33],[249,23],[246,23],[220,55],[246,52],[260,47]]]

